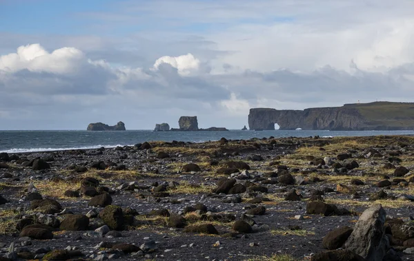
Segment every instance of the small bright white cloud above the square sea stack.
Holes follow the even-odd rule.
[[[154,63],[154,68],[157,70],[159,65],[167,63],[172,67],[177,68],[178,73],[181,75],[188,75],[191,72],[195,72],[199,69],[200,61],[195,58],[193,54],[186,54],[180,56],[162,56]]]

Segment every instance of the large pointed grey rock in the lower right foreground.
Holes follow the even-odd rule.
[[[367,261],[382,261],[389,249],[388,238],[384,233],[385,218],[385,210],[380,204],[366,209],[344,248],[361,255]]]

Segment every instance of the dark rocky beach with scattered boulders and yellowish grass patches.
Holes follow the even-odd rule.
[[[411,136],[0,154],[0,260],[414,260],[413,169]]]

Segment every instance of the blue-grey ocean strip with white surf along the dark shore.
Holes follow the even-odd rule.
[[[190,141],[201,143],[219,140],[221,137],[235,139],[282,137],[336,137],[336,136],[377,136],[377,135],[414,135],[414,131],[307,131],[307,130],[273,130],[228,132],[152,132],[151,130],[128,130],[126,132],[87,132],[70,131],[0,131],[0,152],[43,152],[63,149],[92,149],[98,147],[117,147],[134,145],[144,141]]]

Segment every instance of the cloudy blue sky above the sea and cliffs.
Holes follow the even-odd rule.
[[[413,0],[0,0],[0,129],[413,101]]]

